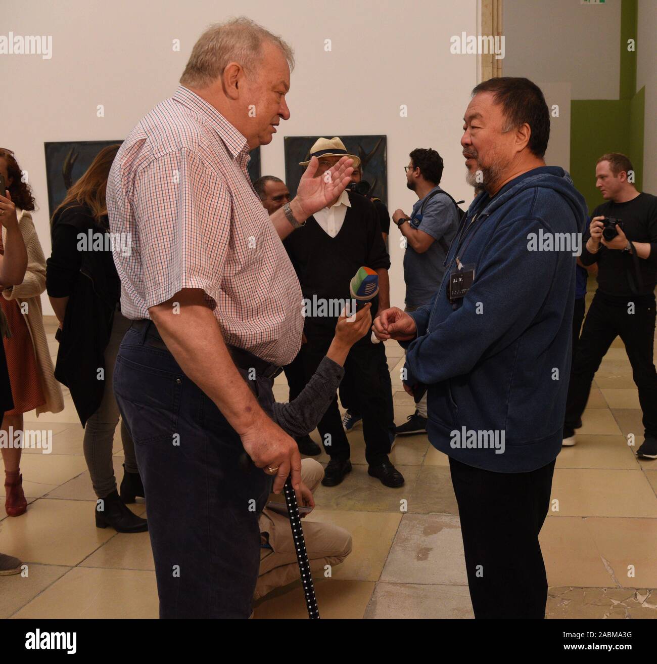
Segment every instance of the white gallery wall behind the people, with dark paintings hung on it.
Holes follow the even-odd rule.
[[[205,27],[240,15],[281,35],[297,60],[287,96],[291,119],[262,148],[263,175],[284,177],[284,135],[386,134],[391,212],[409,212],[416,200],[403,171],[415,147],[441,153],[443,186],[469,203],[459,139],[476,56],[451,54],[450,37],[476,34],[476,0],[3,0],[0,34],[52,35],[50,59],[0,55],[0,145],[29,173],[46,256],[44,142],[123,139],[173,94]],[[403,250],[394,227],[390,252],[392,303],[403,305]],[[51,314],[45,295],[42,303]]]

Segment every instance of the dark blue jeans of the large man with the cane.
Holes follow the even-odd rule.
[[[272,400],[271,381],[255,382]],[[125,334],[114,390],[144,484],[160,618],[249,618],[271,479],[240,466],[240,436],[152,323]]]

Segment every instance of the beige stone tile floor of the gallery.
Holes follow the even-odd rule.
[[[54,357],[54,325],[47,327]],[[401,424],[413,412],[399,380],[403,351],[388,343],[386,353]],[[19,556],[29,570],[27,577],[0,577],[0,617],[156,618],[148,534],[96,529],[82,427],[65,394],[61,413],[26,416],[27,428],[52,430],[53,449],[49,455],[25,451],[27,513],[10,519],[0,508],[0,551]],[[282,374],[275,395],[287,399]],[[583,425],[577,446],[557,458],[552,499],[559,511],[549,513],[541,533],[547,618],[657,618],[657,461],[634,455],[642,442],[641,412],[620,339],[595,378]],[[634,448],[628,433],[636,435]],[[447,457],[426,436],[398,438],[391,459],[406,483],[387,489],[367,474],[360,426],[349,440],[354,471],[338,487],[319,487],[309,517],[348,529],[354,540],[332,578],[317,579],[322,616],[472,618]],[[114,455],[120,478],[118,428]],[[146,505],[133,509],[143,515]],[[304,617],[299,583],[255,606],[255,618]]]

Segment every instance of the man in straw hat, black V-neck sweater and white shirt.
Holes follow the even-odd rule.
[[[333,137],[319,138],[311,147],[307,166],[313,157],[319,165],[315,177],[327,177],[329,169],[343,157],[360,165],[356,155],[348,153],[344,143]],[[377,305],[384,309],[390,303],[386,251],[374,205],[366,197],[343,191],[327,207],[307,219],[303,228],[285,239],[285,248],[299,277],[305,303],[304,338],[301,358],[305,378],[309,380],[326,354],[336,325],[332,303],[349,297],[349,283],[362,266],[378,274],[379,293],[372,303],[372,317]],[[366,334],[357,341],[344,364],[356,388],[363,418],[365,458],[368,473],[388,487],[403,484],[401,473],[390,463],[392,426],[392,386],[384,345],[372,343]],[[322,481],[325,486],[339,484],[351,470],[350,449],[342,428],[337,397],[317,426],[330,461]]]

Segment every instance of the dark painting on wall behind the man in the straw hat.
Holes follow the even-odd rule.
[[[325,138],[336,134],[325,133]],[[310,149],[319,136],[285,136],[285,184],[292,197],[297,195],[299,180],[305,167],[299,162],[310,159]],[[386,163],[385,135],[340,136],[348,153],[360,157],[362,179],[370,185],[370,195],[388,205],[388,164]]]

